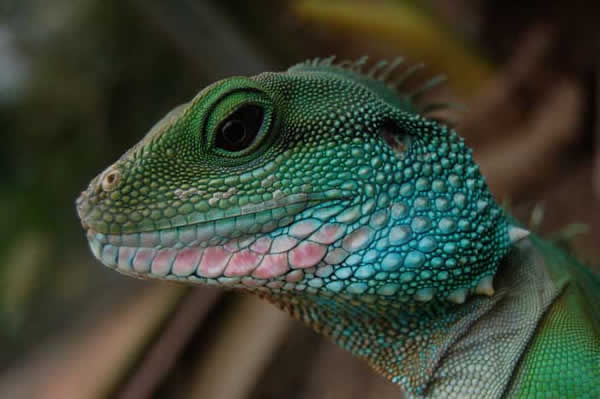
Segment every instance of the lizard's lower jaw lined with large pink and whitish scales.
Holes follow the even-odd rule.
[[[123,274],[249,289],[302,289],[299,282],[307,269],[326,266],[322,261],[328,248],[324,243],[286,234],[261,233],[219,239],[216,241],[221,243],[216,245],[209,240],[188,246],[181,242],[170,242],[169,246],[164,242],[155,246],[127,245],[135,242],[124,237],[88,232],[95,257]]]

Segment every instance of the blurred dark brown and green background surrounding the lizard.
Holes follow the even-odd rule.
[[[595,3],[0,0],[0,397],[399,397],[252,297],[102,267],[74,200],[216,79],[403,55],[448,76],[497,199],[598,265]]]

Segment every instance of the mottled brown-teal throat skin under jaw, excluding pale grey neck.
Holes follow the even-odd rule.
[[[474,297],[463,305],[433,300],[417,308],[381,309],[358,298],[266,296],[294,318],[367,361],[378,374],[424,396],[441,358],[499,298]]]

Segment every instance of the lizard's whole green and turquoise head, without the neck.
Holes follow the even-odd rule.
[[[77,200],[94,255],[268,297],[490,293],[509,239],[470,150],[357,65],[233,77],[174,109]]]

